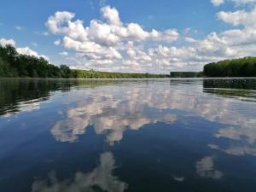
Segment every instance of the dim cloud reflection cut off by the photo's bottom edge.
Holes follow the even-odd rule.
[[[100,165],[92,172],[77,172],[73,179],[58,181],[55,172],[49,173],[49,181],[36,180],[32,184],[32,192],[123,192],[128,185],[113,176],[115,161],[113,154],[101,154]]]

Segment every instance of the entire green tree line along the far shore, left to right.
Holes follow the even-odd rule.
[[[75,78],[75,79],[143,79],[198,77],[256,77],[256,57],[218,61],[207,64],[202,72],[109,73],[94,70],[72,70],[66,65],[57,67],[44,58],[20,55],[11,45],[0,45],[0,77]]]

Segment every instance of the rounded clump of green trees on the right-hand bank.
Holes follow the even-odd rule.
[[[256,77],[256,57],[218,61],[204,67],[207,77]]]

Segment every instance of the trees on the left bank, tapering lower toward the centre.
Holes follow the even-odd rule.
[[[169,78],[166,74],[109,73],[94,70],[73,70],[67,65],[57,67],[44,58],[18,54],[11,45],[0,45],[0,77],[75,78],[75,79],[142,79]]]

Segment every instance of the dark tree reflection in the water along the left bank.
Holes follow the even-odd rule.
[[[69,79],[0,79],[0,115],[9,117],[39,109],[40,102],[48,100],[52,91],[67,92],[81,85],[94,87],[110,83]]]

